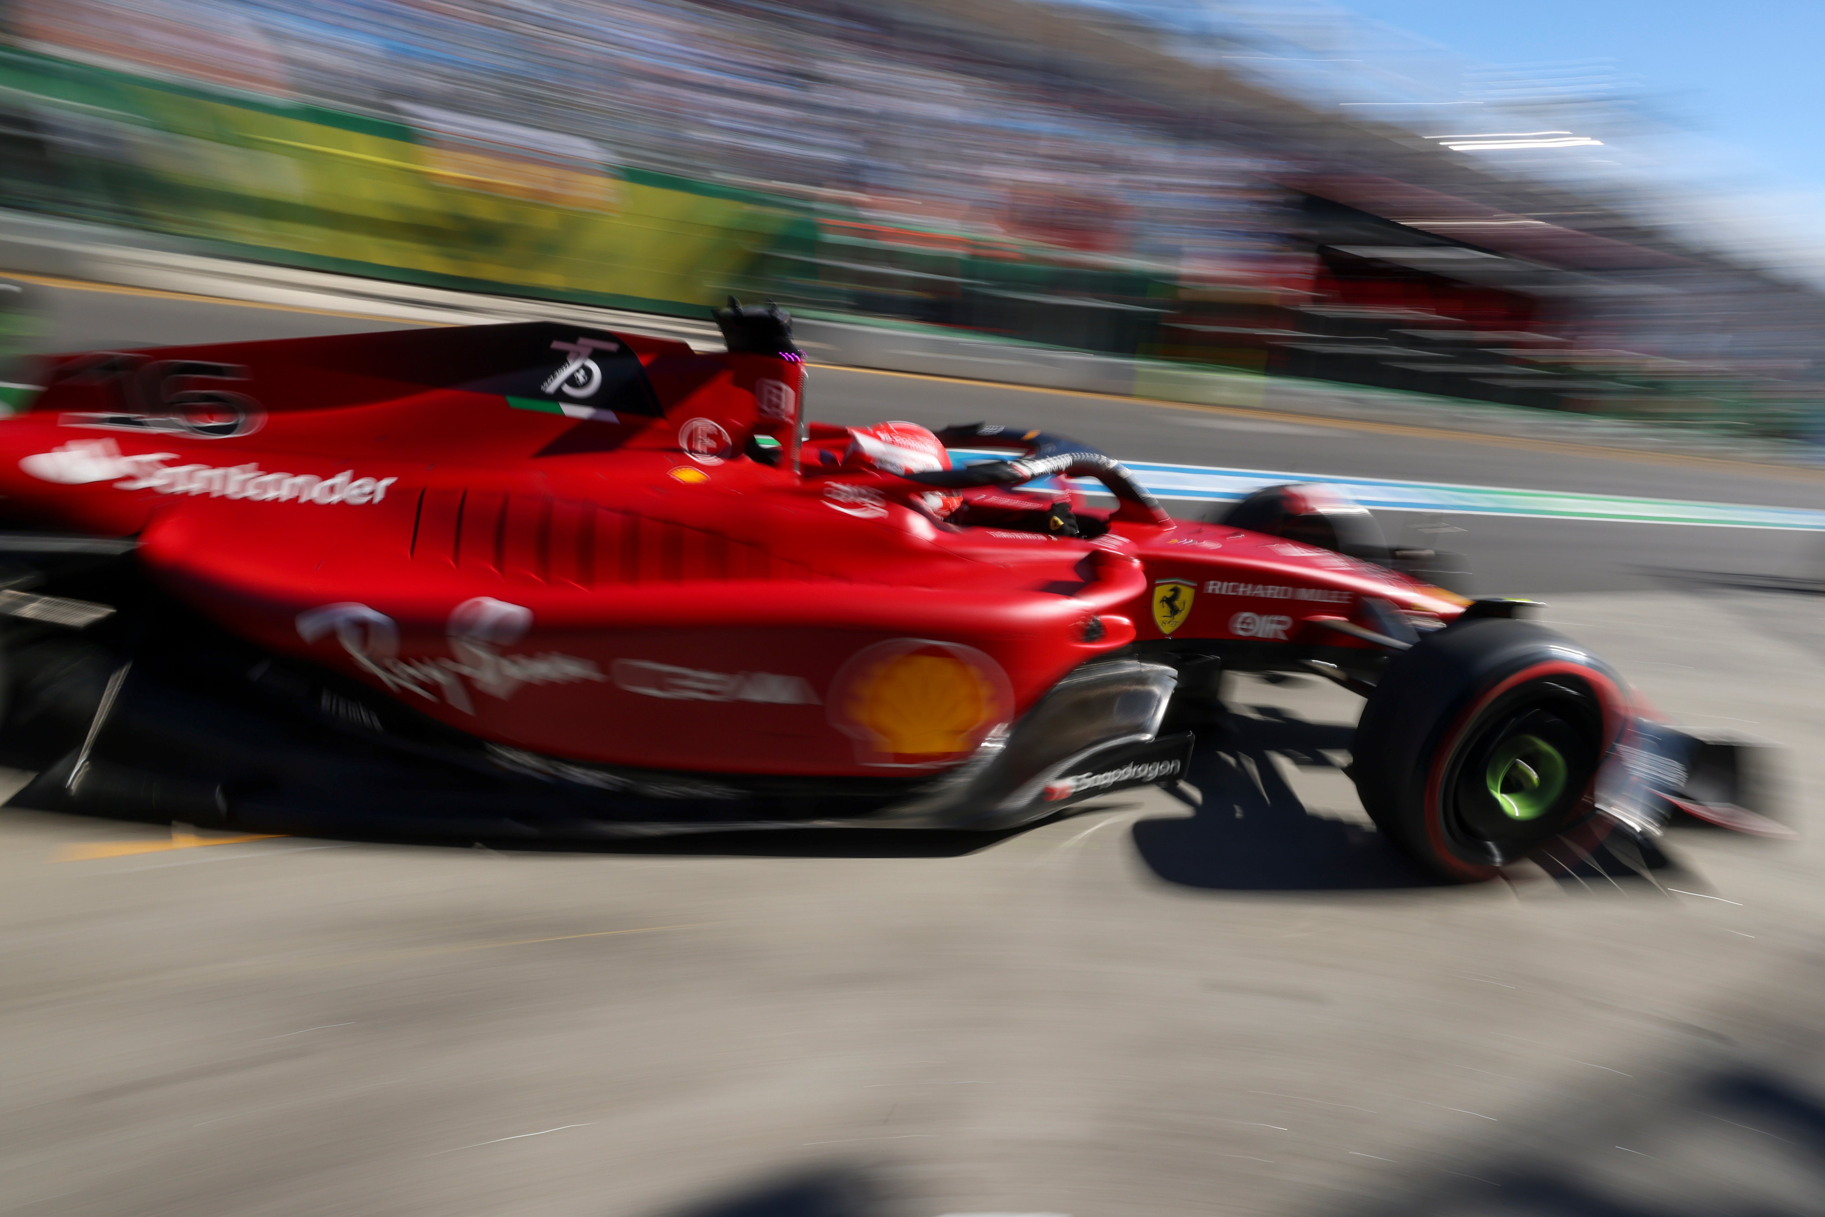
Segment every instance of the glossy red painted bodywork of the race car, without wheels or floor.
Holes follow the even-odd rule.
[[[653,412],[568,418],[476,387],[555,370],[553,336],[579,332],[637,354]],[[151,578],[235,635],[542,754],[748,774],[942,768],[1079,664],[1163,639],[1155,580],[1194,586],[1175,639],[1352,644],[1309,619],[1350,617],[1365,595],[1458,611],[1380,567],[1144,511],[1117,513],[1097,540],[945,524],[922,507],[929,487],[818,463],[816,440],[801,460],[796,358],[558,327],[139,354],[245,378],[164,363],[164,383],[144,367],[135,381],[60,359],[35,405],[0,423],[15,524],[137,535]],[[259,425],[146,431],[133,411],[159,416],[148,383],[245,394]],[[776,465],[746,454],[752,436],[781,443]],[[1084,640],[1091,619],[1104,633]],[[883,755],[845,726],[863,679],[845,664],[894,640],[982,675],[982,721],[954,732],[954,752]]]

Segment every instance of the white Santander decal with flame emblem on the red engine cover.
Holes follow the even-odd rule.
[[[208,494],[245,498],[256,504],[349,504],[363,507],[387,498],[398,478],[358,478],[354,469],[319,478],[312,473],[266,473],[257,463],[245,465],[168,465],[177,452],[122,454],[113,440],[71,440],[49,452],[36,452],[18,467],[40,482],[84,485],[115,482],[117,491],[159,491],[161,494]]]

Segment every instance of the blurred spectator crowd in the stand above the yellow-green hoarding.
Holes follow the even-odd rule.
[[[765,0],[15,0],[15,36],[491,142],[829,201],[947,232],[1272,274],[1259,159],[909,35],[891,5]]]

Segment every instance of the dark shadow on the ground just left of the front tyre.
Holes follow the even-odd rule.
[[[1281,763],[1336,770],[1354,728],[1272,710],[1230,713],[1199,732],[1190,783],[1197,814],[1142,819],[1133,841],[1168,883],[1228,890],[1361,890],[1440,887],[1372,828],[1309,808]],[[1281,759],[1276,759],[1281,757]],[[1338,774],[1341,777],[1341,774]]]

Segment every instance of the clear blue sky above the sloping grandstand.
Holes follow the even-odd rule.
[[[1285,46],[1288,64],[1310,64],[1287,78],[1296,95],[1318,86],[1325,55],[1363,64],[1338,71],[1329,97],[1376,93],[1382,68],[1424,80],[1436,95],[1465,88],[1493,104],[1491,84],[1560,82],[1610,75],[1610,97],[1641,120],[1593,108],[1608,153],[1566,157],[1566,172],[1597,172],[1637,188],[1653,219],[1701,243],[1728,250],[1770,272],[1825,288],[1825,0],[1064,0],[1113,7],[1179,29],[1194,42],[1252,27],[1268,33],[1265,51]],[[1332,29],[1338,13],[1361,27]],[[1400,35],[1376,38],[1380,22]],[[1347,22],[1345,22],[1347,24]],[[1274,36],[1288,42],[1276,44]],[[1422,44],[1444,55],[1429,58]],[[1354,58],[1365,55],[1367,58]],[[1303,57],[1303,58],[1301,58]],[[1495,69],[1465,78],[1464,69]],[[1451,78],[1429,80],[1440,71]],[[1303,73],[1303,78],[1299,78]],[[1414,77],[1413,73],[1420,73]],[[1268,71],[1272,77],[1274,71]],[[1361,88],[1361,86],[1369,88]],[[1394,93],[1400,93],[1396,88]],[[1411,95],[1411,91],[1409,91]],[[1383,91],[1383,97],[1387,93]],[[1363,100],[1369,100],[1367,97]],[[1363,111],[1389,120],[1469,133],[1451,111]],[[1491,113],[1491,119],[1495,119]],[[1575,117],[1557,119],[1579,124]],[[1520,153],[1533,155],[1533,153]],[[1557,153],[1540,153],[1555,157]],[[1613,159],[1606,159],[1613,157]],[[1549,168],[1549,161],[1535,168]],[[1513,166],[1509,166],[1513,168]]]

